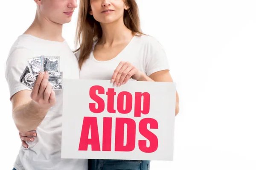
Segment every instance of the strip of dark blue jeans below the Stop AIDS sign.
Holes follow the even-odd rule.
[[[149,170],[150,161],[89,159],[89,170]]]

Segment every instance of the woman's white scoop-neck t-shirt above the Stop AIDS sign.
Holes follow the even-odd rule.
[[[80,50],[76,53],[76,57],[79,57],[79,54]],[[82,65],[80,79],[111,80],[114,70],[121,61],[130,62],[147,76],[157,71],[169,70],[163,46],[156,38],[141,35],[140,37],[134,36],[116,57],[108,61],[96,60],[92,51]]]

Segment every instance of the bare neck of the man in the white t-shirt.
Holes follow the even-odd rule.
[[[54,23],[47,18],[40,17],[38,14],[36,14],[35,20],[24,34],[30,34],[44,40],[64,41],[62,37],[62,24]]]

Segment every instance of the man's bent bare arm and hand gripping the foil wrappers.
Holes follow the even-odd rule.
[[[35,129],[55,105],[55,92],[48,82],[49,74],[41,73],[32,91],[23,90],[12,96],[12,117],[21,133]]]

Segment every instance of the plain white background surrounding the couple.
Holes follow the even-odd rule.
[[[255,0],[137,3],[143,32],[166,48],[180,95],[174,161],[152,161],[151,170],[255,170]],[[1,170],[12,169],[20,147],[4,76],[6,57],[34,16],[32,0],[1,2]],[[76,19],[77,10],[63,31],[72,49]]]

